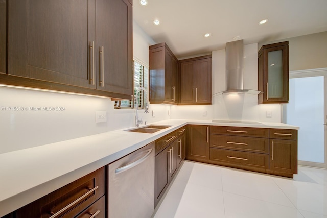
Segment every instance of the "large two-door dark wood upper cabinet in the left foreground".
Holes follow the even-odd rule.
[[[99,95],[110,92],[108,96],[130,99],[132,5],[128,0],[8,4],[9,75],[83,87],[79,93],[96,89]],[[44,84],[40,88],[52,89]]]

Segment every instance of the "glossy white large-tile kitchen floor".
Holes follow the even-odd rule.
[[[327,170],[288,179],[185,161],[154,217],[327,218]]]

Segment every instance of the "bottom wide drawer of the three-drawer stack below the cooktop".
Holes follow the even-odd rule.
[[[262,169],[269,168],[268,154],[256,154],[250,152],[210,148],[210,160],[227,164],[235,164],[238,166],[243,165]]]

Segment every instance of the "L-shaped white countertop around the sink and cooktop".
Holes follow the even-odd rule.
[[[105,166],[186,124],[299,129],[282,123],[163,120],[155,133],[116,130],[0,154],[0,217]]]

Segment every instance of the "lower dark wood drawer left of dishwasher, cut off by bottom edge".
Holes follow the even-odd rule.
[[[62,218],[70,218],[70,217],[76,217],[76,218],[90,218],[92,215],[96,215],[95,217],[99,218],[105,218],[106,217],[106,205],[105,205],[105,197],[102,196],[98,201],[91,204],[89,207],[87,207],[82,213],[81,210],[84,208],[76,207],[73,210],[66,213]],[[80,213],[80,214],[79,214]],[[76,216],[76,214],[79,214]]]

